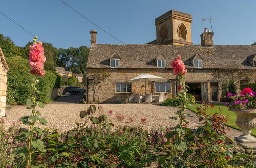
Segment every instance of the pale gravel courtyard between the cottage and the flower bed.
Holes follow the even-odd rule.
[[[69,130],[76,125],[75,121],[82,122],[79,113],[81,110],[86,110],[90,105],[86,104],[65,104],[51,103],[46,104],[45,108],[39,108],[42,117],[48,121],[48,127],[60,130]],[[97,110],[94,116],[101,114],[108,115],[108,119],[115,126],[126,124],[131,126],[142,126],[145,129],[160,129],[175,126],[178,121],[169,119],[169,116],[177,116],[174,114],[179,108],[166,107],[152,104],[99,104],[102,110]],[[96,107],[98,105],[96,104]],[[112,114],[109,112],[112,110]],[[9,127],[13,122],[16,122],[22,116],[31,115],[31,110],[26,109],[26,106],[14,106],[6,111],[5,125]],[[119,116],[120,119],[117,119]],[[122,119],[122,116],[124,117]],[[132,122],[131,119],[132,118]],[[142,124],[141,119],[146,118],[146,123]],[[128,123],[127,123],[128,122]],[[196,128],[198,124],[190,121],[189,127]]]

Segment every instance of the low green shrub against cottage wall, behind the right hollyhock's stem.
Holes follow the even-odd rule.
[[[193,95],[187,93],[186,97],[187,97],[188,104],[194,104],[195,103],[196,99]],[[162,105],[163,106],[174,106],[174,107],[181,106],[182,105],[182,98],[181,97],[167,98],[166,100],[164,100]]]

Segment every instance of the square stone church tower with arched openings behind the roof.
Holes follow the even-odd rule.
[[[148,44],[191,45],[192,16],[170,10],[155,20],[157,39]]]

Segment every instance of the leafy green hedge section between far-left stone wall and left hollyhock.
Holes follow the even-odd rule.
[[[28,61],[20,57],[6,58],[10,71],[7,74],[7,103],[26,104],[31,95],[32,75],[29,73]]]

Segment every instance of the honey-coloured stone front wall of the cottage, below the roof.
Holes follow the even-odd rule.
[[[189,70],[186,75],[187,83],[203,83],[206,82],[207,88],[207,101],[211,101],[210,82],[218,82],[218,101],[221,97],[220,83],[223,80],[235,80],[236,86],[239,89],[240,80],[248,80],[254,82],[256,80],[256,71],[248,73],[247,71],[231,72],[231,71],[217,71],[217,70],[204,70],[194,69]],[[93,80],[90,80],[92,73],[109,73],[110,75],[104,79],[99,85],[93,88]],[[124,83],[128,80],[139,76],[143,73],[163,77],[170,82],[170,93],[168,97],[174,97],[176,94],[175,75],[171,69],[87,69],[87,76],[89,77],[89,103],[125,103],[128,98],[134,93],[145,93],[145,83],[132,83],[132,93],[116,93],[115,83]],[[247,74],[247,75],[245,75]],[[146,83],[147,93],[154,93],[154,82]],[[239,91],[239,90],[238,90]]]

